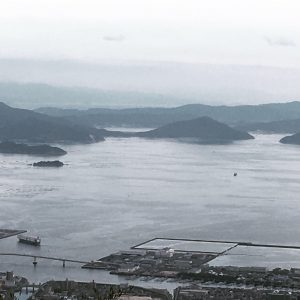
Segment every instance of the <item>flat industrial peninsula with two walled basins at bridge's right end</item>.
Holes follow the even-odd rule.
[[[290,258],[290,260],[288,259]],[[105,269],[113,274],[177,277],[203,268],[299,268],[300,248],[222,240],[153,238],[103,257],[83,268]]]

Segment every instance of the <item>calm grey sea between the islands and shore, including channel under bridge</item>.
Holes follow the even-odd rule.
[[[0,240],[0,254],[91,261],[155,237],[300,246],[300,146],[280,144],[281,137],[255,134],[227,145],[107,138],[59,145],[68,152],[62,168],[31,165],[49,157],[1,154],[0,228],[28,230],[42,245],[10,237]],[[300,267],[299,251],[251,251],[235,250],[225,263]],[[0,271],[8,270],[35,283],[141,282],[73,263],[63,268],[38,259],[34,267],[32,258],[0,255]]]

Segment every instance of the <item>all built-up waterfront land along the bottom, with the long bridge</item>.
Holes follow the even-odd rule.
[[[2,230],[3,235],[16,232]],[[214,265],[213,261],[238,247],[238,242],[198,241],[154,238],[119,251],[98,261],[81,262],[84,269],[102,269],[124,279],[124,284],[76,282],[74,280],[30,283],[13,272],[0,273],[0,299],[300,299],[300,269],[265,266]],[[246,243],[243,243],[244,245]],[[249,247],[257,247],[247,243]],[[172,246],[172,248],[171,248]],[[259,246],[258,246],[259,247]],[[290,247],[270,245],[272,247]],[[2,255],[32,256],[29,254],[2,253]],[[32,256],[34,268],[38,260],[80,263],[78,260],[59,257]],[[125,277],[124,277],[125,276]],[[125,278],[142,281],[159,280],[175,283],[173,290],[133,286]],[[25,293],[25,296],[24,296]],[[25,297],[25,298],[24,298]]]

